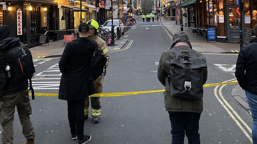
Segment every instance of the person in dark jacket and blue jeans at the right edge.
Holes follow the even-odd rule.
[[[252,142],[257,144],[257,24],[254,27],[254,35],[256,38],[243,46],[239,52],[235,75],[240,87],[245,90],[253,119]]]

